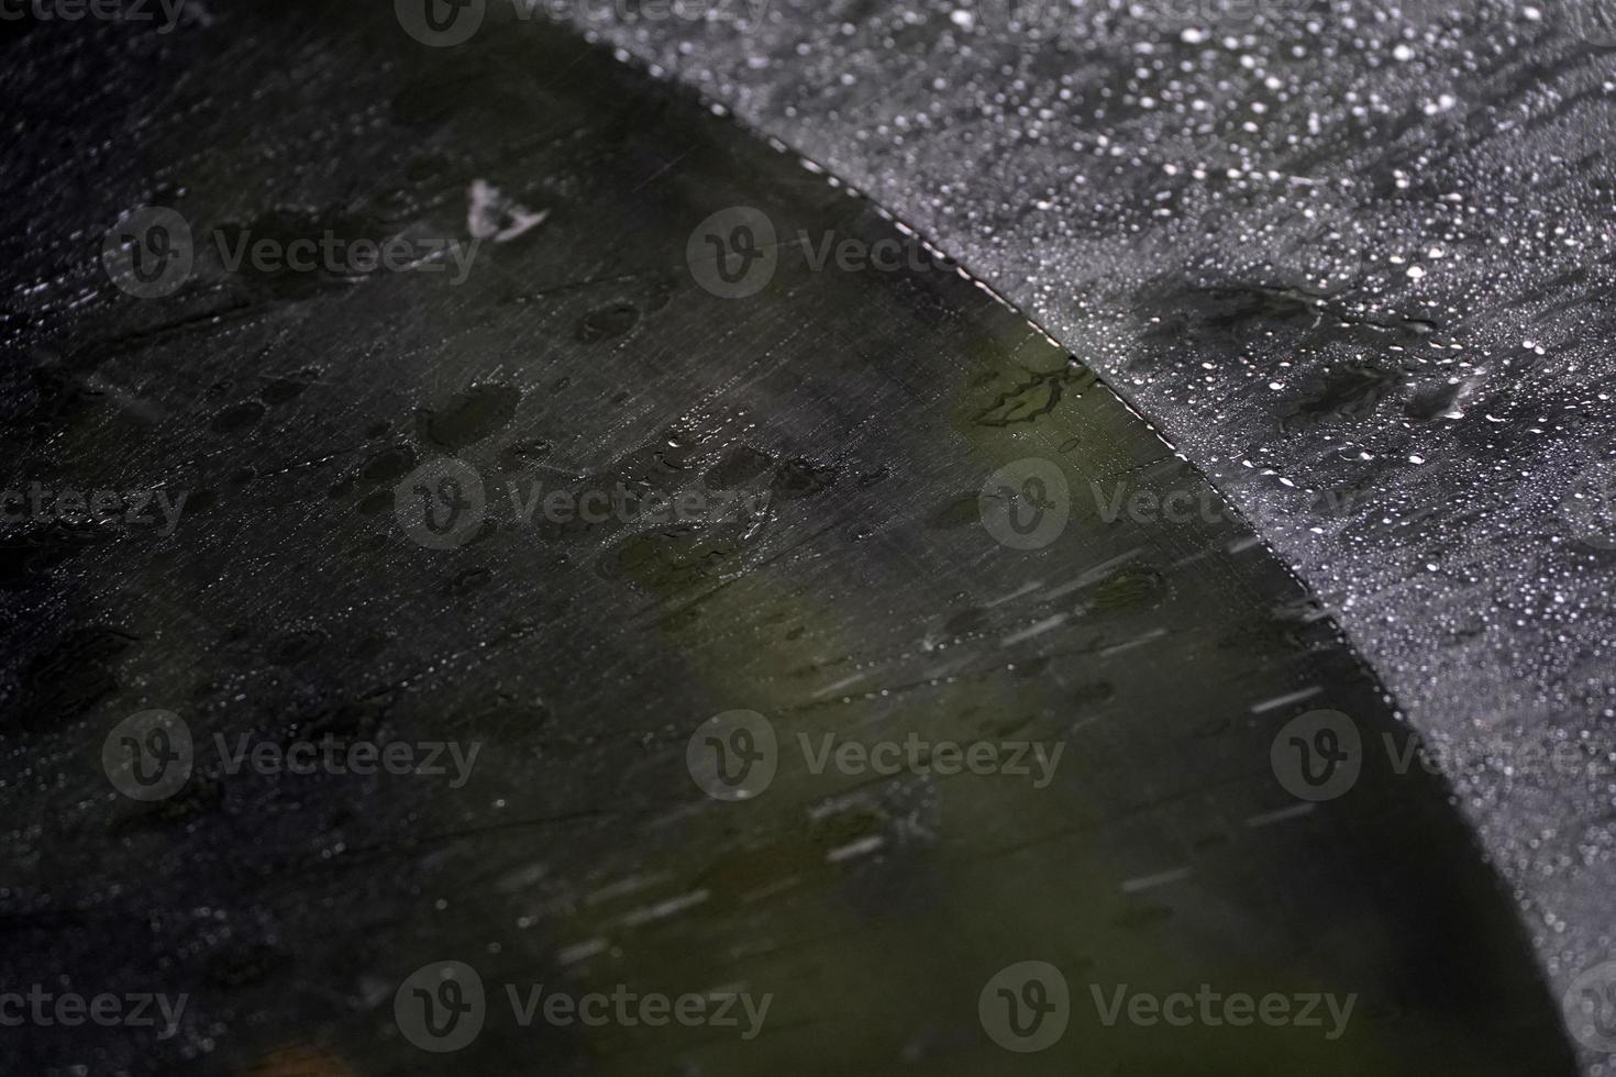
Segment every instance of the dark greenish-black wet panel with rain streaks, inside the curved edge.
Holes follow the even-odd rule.
[[[5,165],[27,176],[6,488],[181,509],[171,534],[162,512],[6,525],[0,969],[189,1003],[162,1040],[0,1029],[5,1072],[1572,1072],[1441,782],[1364,751],[1340,796],[1286,788],[1272,749],[1304,712],[1409,743],[1335,622],[1223,512],[1107,522],[1091,484],[1222,502],[934,254],[814,271],[789,239],[898,237],[868,202],[537,24],[422,50],[385,8],[239,5],[158,40],[47,26],[8,48],[8,84],[52,92],[21,95]],[[459,284],[233,273],[199,242],[184,286],[134,299],[100,254],[141,205],[197,236],[482,242]],[[692,250],[739,249],[734,218],[706,226],[739,205],[782,242],[756,294],[724,297]],[[1309,331],[1298,295],[1218,294],[1194,331]],[[1320,383],[1285,421],[1380,386]],[[1073,496],[1021,549],[994,497],[1036,488],[989,480],[1029,459]],[[724,512],[524,523],[507,484],[537,481]],[[478,483],[486,512],[459,515]],[[139,803],[102,749],[154,709],[196,765]],[[722,803],[687,744],[734,710],[766,715],[779,770]],[[826,733],[1063,754],[1042,786],[814,773],[797,736]],[[480,754],[461,785],[229,773],[215,735]],[[490,1006],[433,1054],[394,999],[448,961]],[[1025,961],[1071,995],[1029,1054],[978,1006]],[[772,1001],[750,1040],[519,1027],[504,987],[540,983]],[[1356,1003],[1327,1040],[1105,1025],[1091,1001],[1202,983]]]

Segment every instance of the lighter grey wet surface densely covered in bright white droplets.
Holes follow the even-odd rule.
[[[713,11],[572,16],[1102,371],[1440,746],[1556,987],[1616,956],[1611,5]]]

